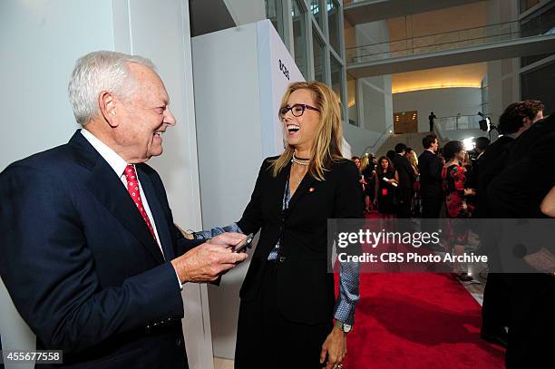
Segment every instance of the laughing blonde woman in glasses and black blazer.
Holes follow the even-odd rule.
[[[260,238],[240,291],[235,367],[340,368],[358,267],[341,265],[336,299],[326,221],[363,218],[360,175],[341,156],[339,101],[325,84],[291,84],[278,114],[287,149],[263,161],[237,222]]]

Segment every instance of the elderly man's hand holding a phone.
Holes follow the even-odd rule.
[[[237,235],[239,235],[239,233]],[[218,279],[220,274],[235,267],[237,263],[247,258],[246,253],[234,253],[231,251],[229,246],[235,244],[224,243],[224,240],[230,242],[235,241],[237,236],[216,238],[212,238],[211,240],[215,242],[221,241],[222,243],[216,245],[204,243],[191,249],[180,257],[171,260],[171,265],[175,269],[178,277],[180,277],[181,283],[213,282]]]

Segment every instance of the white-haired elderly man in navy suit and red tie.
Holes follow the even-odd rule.
[[[158,173],[176,124],[152,63],[89,53],[69,83],[83,126],[65,145],[0,174],[0,274],[37,349],[76,367],[187,367],[182,284],[244,260],[227,233],[206,244],[173,224]],[[73,366],[72,366],[73,367]]]

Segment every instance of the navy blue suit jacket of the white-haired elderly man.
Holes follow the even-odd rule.
[[[161,178],[136,165],[164,257],[112,167],[77,131],[0,173],[0,275],[38,349],[78,367],[186,367],[170,260],[200,241],[173,225]]]

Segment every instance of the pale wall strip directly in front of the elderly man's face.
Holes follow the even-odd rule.
[[[124,6],[117,0],[114,6]],[[164,153],[149,161],[164,181],[174,221],[182,228],[199,228],[200,192],[194,96],[190,53],[189,1],[130,0],[127,14],[114,21],[122,24],[116,40],[122,51],[129,34],[129,52],[146,56],[156,64],[170,95],[170,109],[177,119],[164,135]],[[115,15],[115,13],[114,13]],[[128,21],[126,19],[129,19]],[[129,25],[129,31],[125,30]],[[185,345],[191,368],[213,367],[206,285],[183,288]]]

